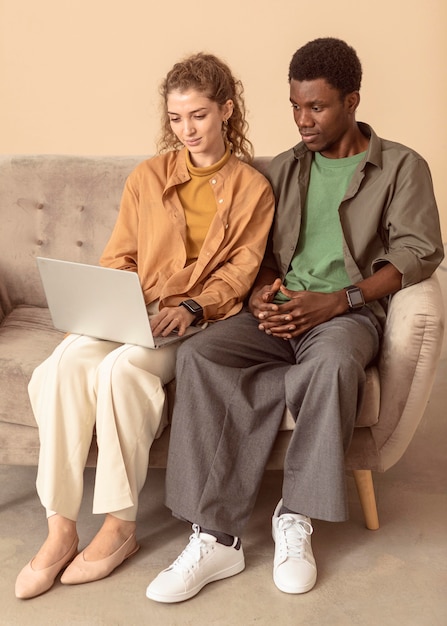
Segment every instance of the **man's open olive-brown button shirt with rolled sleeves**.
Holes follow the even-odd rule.
[[[428,278],[444,256],[430,170],[414,150],[359,127],[369,145],[338,209],[346,272],[357,283],[391,263],[408,287]],[[300,142],[269,167],[276,212],[263,266],[282,279],[299,240],[313,156]],[[383,323],[387,299],[368,306]]]

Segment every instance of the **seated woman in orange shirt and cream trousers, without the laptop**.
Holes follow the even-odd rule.
[[[274,200],[244,161],[242,85],[212,55],[174,65],[161,89],[159,154],[129,176],[101,265],[138,272],[155,336],[237,313],[260,265]],[[205,331],[206,332],[206,331]],[[138,545],[138,494],[163,427],[163,386],[176,344],[159,350],[69,335],[33,373],[29,394],[41,441],[37,490],[48,537],[19,574],[16,596],[108,576]],[[93,512],[105,514],[77,555],[76,519],[93,429]],[[76,556],[77,555],[77,556]],[[76,557],[76,558],[74,558]]]

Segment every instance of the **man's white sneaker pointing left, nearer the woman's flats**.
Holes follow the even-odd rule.
[[[208,583],[239,574],[245,568],[244,552],[237,537],[232,546],[224,546],[213,535],[201,533],[196,524],[192,529],[189,544],[180,556],[146,589],[151,600],[188,600]]]

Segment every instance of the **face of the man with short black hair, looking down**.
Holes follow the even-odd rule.
[[[293,117],[302,140],[309,150],[320,152],[327,158],[350,155],[358,101],[357,92],[342,98],[338,89],[323,78],[290,81]]]

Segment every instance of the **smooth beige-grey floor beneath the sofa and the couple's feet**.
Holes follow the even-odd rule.
[[[381,528],[368,531],[352,477],[351,518],[314,522],[315,588],[276,589],[270,517],[281,472],[266,472],[244,537],[246,569],[178,605],[145,597],[152,578],[185,546],[189,527],[163,506],[164,470],[151,470],[141,497],[140,552],[109,578],[17,600],[14,581],[45,535],[34,467],[0,467],[0,623],[4,626],[447,626],[447,359],[443,357],[422,423],[404,457],[375,476]],[[89,514],[93,470],[86,471],[81,546],[101,523]]]

